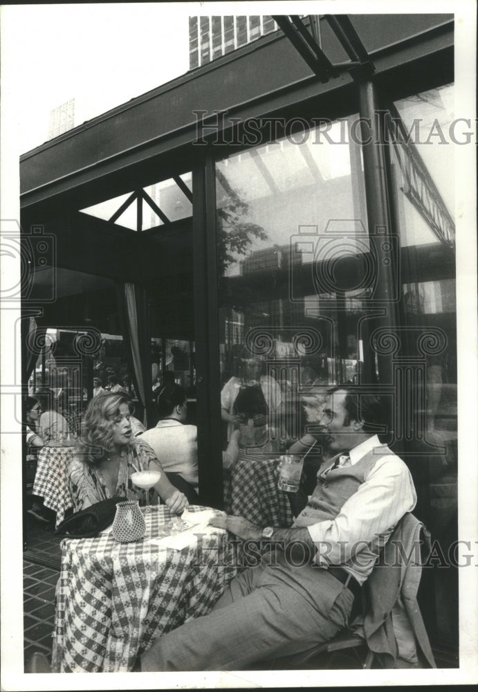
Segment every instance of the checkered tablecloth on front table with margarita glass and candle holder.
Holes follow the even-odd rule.
[[[153,507],[145,518],[145,538],[134,543],[111,534],[62,541],[54,672],[131,671],[157,637],[207,614],[237,573],[226,531],[176,551],[149,541],[171,521],[169,510]]]

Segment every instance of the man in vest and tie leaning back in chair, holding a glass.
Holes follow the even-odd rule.
[[[256,526],[237,516],[210,520],[259,543],[261,561],[230,581],[209,614],[156,639],[135,670],[242,670],[309,653],[347,628],[360,586],[398,522],[414,509],[416,493],[407,466],[374,434],[383,418],[380,397],[347,386],[330,394],[322,424],[335,456],[318,473],[304,511],[290,529]],[[272,553],[271,542],[277,548]],[[299,563],[287,558],[295,545]],[[383,602],[393,603],[394,584],[381,588]],[[371,617],[375,629],[383,627],[381,611]],[[409,625],[412,637],[426,639],[414,622]]]

